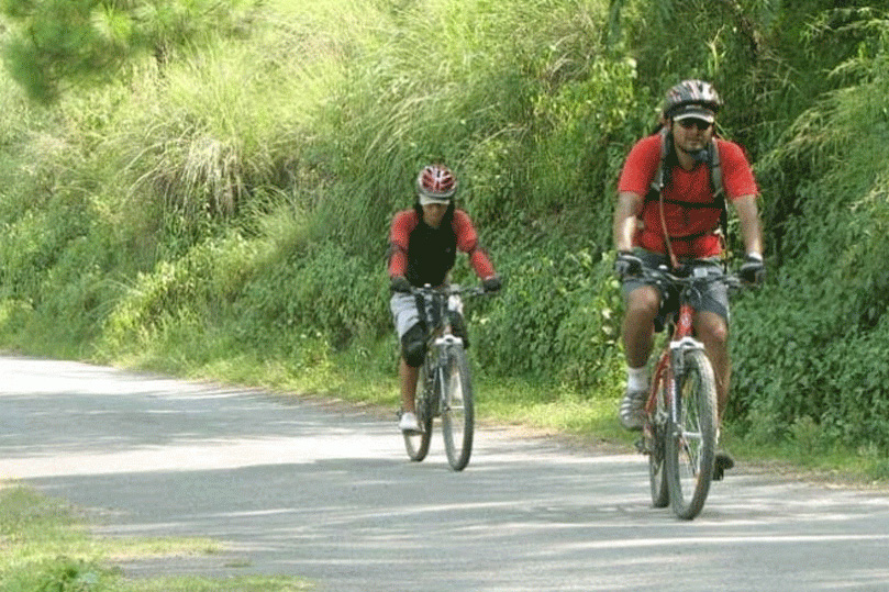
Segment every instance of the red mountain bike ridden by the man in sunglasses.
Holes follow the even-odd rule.
[[[713,480],[719,418],[716,379],[703,344],[693,336],[690,300],[710,282],[736,290],[742,280],[702,267],[690,276],[666,267],[642,275],[678,298],[678,306],[667,313],[667,338],[644,407],[641,449],[648,455],[652,504],[673,505],[678,517],[692,520],[703,509]]]

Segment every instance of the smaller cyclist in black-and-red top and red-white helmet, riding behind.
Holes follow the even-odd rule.
[[[389,233],[392,289],[389,306],[401,340],[399,428],[402,432],[420,431],[414,398],[418,369],[423,365],[426,346],[426,328],[422,322],[425,314],[421,314],[411,287],[445,283],[457,250],[468,254],[469,264],[487,292],[496,292],[501,286],[488,254],[479,244],[473,221],[466,212],[455,208],[456,192],[457,180],[451,169],[443,165],[425,167],[416,178],[418,197],[413,208],[395,215]],[[465,327],[462,331],[465,332]]]

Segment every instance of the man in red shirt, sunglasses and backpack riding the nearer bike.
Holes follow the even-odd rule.
[[[654,322],[663,299],[656,287],[636,273],[643,267],[663,264],[710,266],[711,272],[722,272],[722,243],[718,231],[724,199],[737,213],[746,249],[742,277],[754,282],[764,277],[763,236],[756,206],[758,189],[741,147],[713,136],[721,104],[709,82],[685,80],[673,87],[663,111],[663,130],[633,146],[618,185],[614,268],[623,280],[626,303],[623,342],[627,362],[626,394],[620,417],[629,429],[642,428],[642,407],[649,380],[646,365],[654,347]],[[724,198],[716,197],[718,188],[713,188],[711,181],[708,159],[714,158],[715,150]],[[666,182],[658,191],[652,183],[662,159]],[[721,282],[710,286],[709,293],[701,294],[700,302],[696,303],[694,333],[703,343],[716,376],[722,418],[731,375],[726,343],[729,298]],[[723,468],[733,465],[724,453],[718,457],[718,462]]]

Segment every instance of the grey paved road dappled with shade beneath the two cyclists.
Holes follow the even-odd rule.
[[[742,467],[686,523],[649,507],[636,455],[485,429],[454,473],[440,437],[412,463],[393,418],[344,405],[15,357],[0,376],[0,479],[96,511],[103,534],[229,548],[166,572],[333,592],[889,590],[876,493]]]

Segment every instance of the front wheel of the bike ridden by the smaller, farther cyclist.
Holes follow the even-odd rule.
[[[473,454],[475,415],[473,409],[473,380],[469,361],[462,345],[448,348],[445,367],[444,396],[442,399],[442,434],[447,462],[462,471]]]

